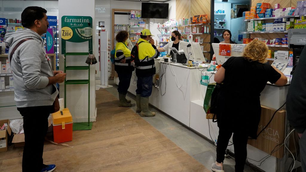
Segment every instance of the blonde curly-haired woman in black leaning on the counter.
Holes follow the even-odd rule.
[[[215,74],[215,81],[223,83],[218,95],[217,159],[211,170],[224,172],[223,160],[233,134],[235,172],[243,172],[247,158],[248,136],[256,139],[260,120],[260,92],[267,82],[283,86],[285,75],[266,64],[268,47],[257,39],[249,43],[243,57],[231,57]]]

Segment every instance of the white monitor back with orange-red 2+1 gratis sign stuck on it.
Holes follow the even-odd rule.
[[[246,44],[229,44],[231,45],[231,54],[230,56],[219,55],[219,46],[220,43],[212,43],[212,48],[214,49],[216,62],[218,65],[223,65],[224,62],[230,57],[241,57],[243,54],[244,47]]]

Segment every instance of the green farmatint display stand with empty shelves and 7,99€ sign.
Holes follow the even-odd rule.
[[[88,80],[66,80],[64,81],[64,101],[66,107],[66,86],[69,84],[88,84],[88,122],[73,123],[73,130],[90,130],[90,65],[88,66],[67,66],[66,59],[69,56],[88,56],[92,51],[92,18],[89,16],[63,16],[62,17],[62,54],[64,54],[64,72],[67,70],[87,70]],[[81,43],[88,41],[88,52],[66,52],[66,41]],[[85,62],[85,60],[84,60]]]

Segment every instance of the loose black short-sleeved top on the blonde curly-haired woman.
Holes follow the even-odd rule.
[[[280,77],[271,65],[250,62],[243,57],[231,57],[225,68],[223,86],[218,98],[221,120],[219,127],[239,126],[245,128],[249,136],[256,137],[261,107],[259,96],[267,81],[274,84]],[[233,128],[233,127],[232,127]]]

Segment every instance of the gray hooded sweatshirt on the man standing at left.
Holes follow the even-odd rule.
[[[28,28],[6,34],[9,57],[15,45],[25,38],[34,40],[22,43],[11,61],[17,107],[50,106],[58,90],[55,84],[48,85],[48,77],[53,76],[53,71],[41,36]]]

